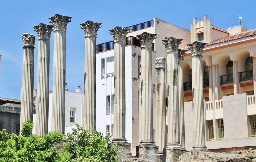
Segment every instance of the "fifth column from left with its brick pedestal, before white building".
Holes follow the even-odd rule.
[[[112,144],[122,146],[119,160],[131,158],[131,144],[125,138],[125,37],[130,29],[116,26],[109,30],[114,38],[114,136]]]

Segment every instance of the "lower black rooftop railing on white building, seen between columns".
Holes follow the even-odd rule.
[[[138,40],[136,37],[134,36],[129,36],[125,38],[125,46],[128,45],[134,45],[137,47],[141,47],[141,43],[140,40]],[[98,44],[96,45],[96,52],[103,52],[103,51],[107,51],[110,49],[114,49],[114,41],[110,41],[110,42],[105,42],[102,44]],[[152,44],[152,51],[155,51],[155,44]]]

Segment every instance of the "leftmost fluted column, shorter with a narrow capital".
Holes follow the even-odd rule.
[[[20,108],[20,128],[27,119],[33,119],[34,90],[34,46],[35,35],[25,33],[23,40],[22,90]]]

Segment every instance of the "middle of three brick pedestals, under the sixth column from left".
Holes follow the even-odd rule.
[[[136,156],[147,158],[154,162],[162,162],[162,156],[158,154],[159,146],[156,145],[139,145],[136,146]]]

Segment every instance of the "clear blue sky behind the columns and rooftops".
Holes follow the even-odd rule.
[[[207,15],[212,25],[222,29],[242,24],[256,28],[255,1],[8,1],[0,0],[0,97],[20,99],[22,83],[22,34],[36,35],[33,26],[49,23],[55,14],[71,16],[66,34],[66,83],[70,91],[83,89],[84,33],[80,23],[87,20],[102,23],[97,44],[112,41],[109,30],[131,26],[158,18],[190,30],[193,17]],[[50,41],[50,90],[52,90],[53,37]],[[37,35],[36,35],[37,39]],[[37,46],[35,43],[34,87],[37,80]]]

